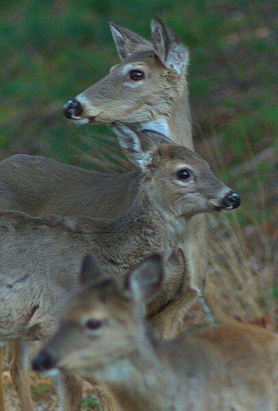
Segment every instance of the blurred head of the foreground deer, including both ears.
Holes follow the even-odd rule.
[[[162,265],[161,256],[150,256],[120,286],[115,279],[105,279],[96,261],[85,256],[81,290],[64,309],[56,334],[34,358],[33,369],[90,375],[132,353],[144,327],[145,304],[159,291]]]

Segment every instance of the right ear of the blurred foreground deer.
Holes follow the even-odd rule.
[[[163,260],[161,255],[153,254],[139,262],[126,276],[125,286],[135,299],[148,303],[160,290],[163,280]]]

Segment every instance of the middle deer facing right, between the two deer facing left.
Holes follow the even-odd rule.
[[[119,279],[148,253],[163,253],[161,293],[146,312],[157,334],[178,328],[195,299],[195,292],[188,292],[181,248],[186,224],[198,213],[233,210],[240,199],[195,151],[173,144],[143,151],[138,132],[117,122],[113,129],[130,161],[141,168],[137,197],[124,216],[35,217],[0,211],[2,340],[47,340],[55,332],[57,312],[74,289],[86,253],[97,256],[105,275]],[[61,392],[64,404],[71,399],[74,406],[62,409],[79,409],[81,388],[77,383],[73,389],[72,380],[62,379]],[[72,393],[77,393],[75,402]]]

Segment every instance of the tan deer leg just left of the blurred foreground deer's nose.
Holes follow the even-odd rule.
[[[33,411],[28,370],[27,343],[20,340],[8,341],[8,362],[14,388],[23,411]]]

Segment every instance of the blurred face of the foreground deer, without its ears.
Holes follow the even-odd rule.
[[[128,300],[115,284],[81,290],[64,311],[59,331],[35,359],[36,371],[65,369],[91,375],[133,349]]]

